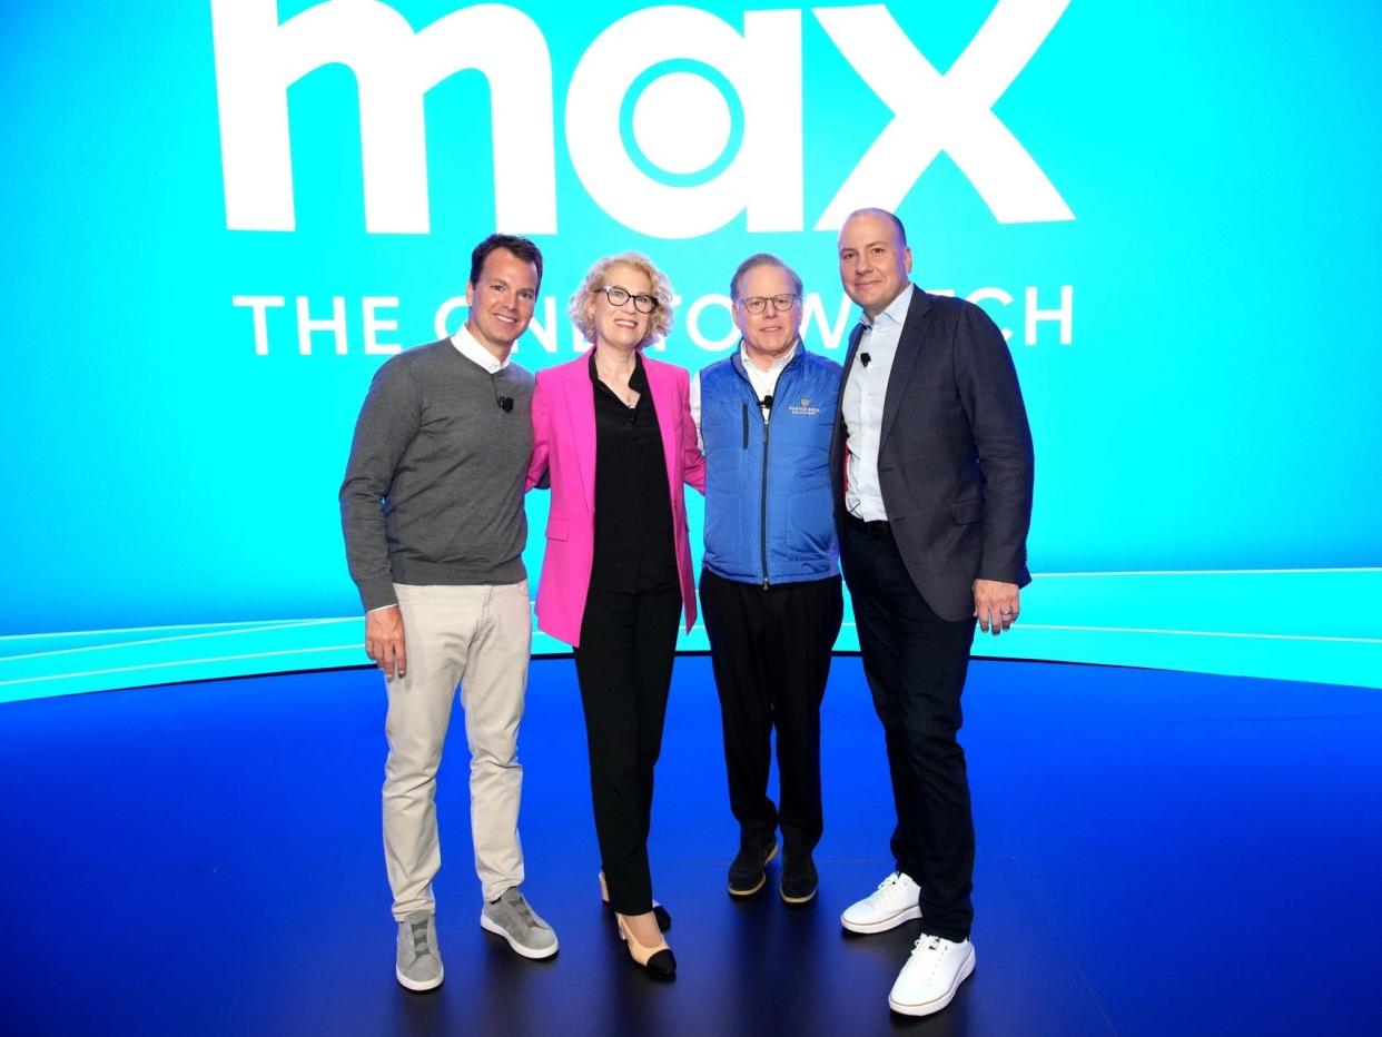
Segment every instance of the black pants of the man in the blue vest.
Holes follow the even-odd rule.
[[[789,854],[821,841],[821,700],[843,607],[839,577],[764,589],[701,574],[730,810],[745,846],[763,846],[779,824]],[[774,727],[781,809],[767,794]]]

